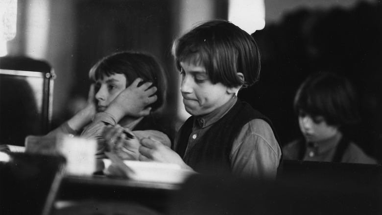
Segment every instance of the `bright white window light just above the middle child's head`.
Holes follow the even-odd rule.
[[[229,0],[228,20],[247,33],[265,27],[264,0]]]

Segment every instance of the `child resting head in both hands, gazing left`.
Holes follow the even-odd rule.
[[[92,67],[89,78],[93,84],[88,105],[48,135],[81,134],[96,139],[97,158],[105,158],[102,132],[108,127],[115,127],[121,136],[116,153],[122,159],[138,160],[139,142],[131,141],[133,137],[151,136],[171,145],[152,116],[163,107],[167,95],[166,74],[155,57],[135,52],[111,54]]]

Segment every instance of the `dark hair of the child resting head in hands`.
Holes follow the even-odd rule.
[[[167,76],[163,66],[150,54],[136,52],[119,52],[99,60],[90,69],[89,78],[96,81],[103,75],[123,74],[126,77],[126,87],[137,78],[144,82],[152,82],[158,88],[155,93],[157,101],[150,105],[152,110],[161,108],[167,97]]]

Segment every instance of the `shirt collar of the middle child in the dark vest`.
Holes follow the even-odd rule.
[[[216,108],[211,113],[195,117],[194,128],[206,128],[214,124],[235,105],[236,101],[238,101],[238,97],[234,95],[228,102],[219,108]]]

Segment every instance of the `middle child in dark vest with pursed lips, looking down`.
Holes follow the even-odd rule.
[[[192,116],[180,128],[174,151],[143,138],[140,160],[177,163],[203,174],[275,178],[282,157],[275,130],[236,96],[259,80],[254,38],[228,21],[209,21],[177,39],[173,56]]]

